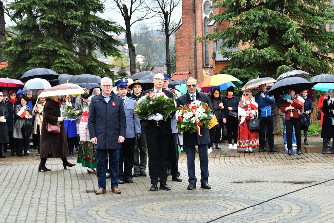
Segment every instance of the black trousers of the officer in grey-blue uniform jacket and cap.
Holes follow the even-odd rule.
[[[120,168],[118,179],[132,179],[132,166],[135,153],[135,138],[126,138],[120,149]]]

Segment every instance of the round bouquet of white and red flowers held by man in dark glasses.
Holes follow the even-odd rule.
[[[190,104],[179,107],[176,112],[177,128],[179,132],[196,132],[201,135],[200,126],[208,128],[210,120],[213,118],[208,104],[195,100]]]

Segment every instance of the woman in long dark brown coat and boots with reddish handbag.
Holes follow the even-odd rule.
[[[48,157],[61,157],[64,169],[66,166],[74,166],[74,163],[69,163],[66,156],[68,156],[68,146],[66,139],[66,132],[64,128],[63,118],[60,117],[60,108],[58,103],[58,96],[51,96],[46,99],[44,105],[44,120],[42,122],[42,130],[40,136],[40,164],[38,171],[51,171],[46,168],[45,162]],[[60,121],[60,132],[57,134],[48,133],[46,129],[47,123],[56,124]]]

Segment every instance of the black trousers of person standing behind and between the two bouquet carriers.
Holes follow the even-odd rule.
[[[179,151],[177,148],[177,133],[170,134],[167,160],[170,162],[172,178],[180,176],[179,173]]]

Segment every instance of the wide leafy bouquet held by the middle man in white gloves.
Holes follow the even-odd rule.
[[[177,111],[173,98],[168,98],[164,92],[152,91],[141,97],[134,109],[135,115],[140,119],[159,113],[165,121],[172,117],[170,113],[173,111]]]

